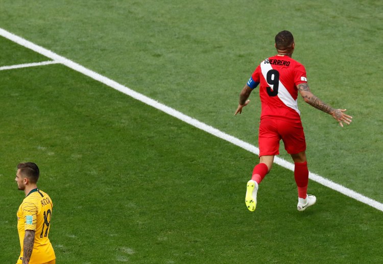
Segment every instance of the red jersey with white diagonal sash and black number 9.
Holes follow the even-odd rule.
[[[261,116],[300,121],[297,85],[307,82],[306,70],[289,56],[276,55],[262,61],[251,76],[260,83]]]

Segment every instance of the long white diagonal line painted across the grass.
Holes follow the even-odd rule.
[[[56,53],[50,51],[50,50],[47,50],[47,49],[44,49],[43,47],[41,46],[38,46],[26,39],[23,39],[19,36],[16,36],[4,29],[1,29],[0,28],[0,36],[3,36],[13,42],[16,42],[22,46],[25,46],[27,47],[28,49],[30,50],[33,50],[39,54],[42,54],[54,61],[57,61],[59,63],[62,63],[64,64],[65,66],[71,68],[71,69],[74,69],[76,71],[78,71],[79,73],[82,73],[86,76],[89,76],[90,78],[94,79],[94,80],[97,80],[101,83],[104,83],[106,85],[108,85],[109,87],[113,88],[113,89],[116,89],[118,91],[121,91],[127,95],[129,95],[130,97],[136,99],[136,100],[139,100],[141,101],[142,103],[145,103],[147,105],[150,105],[160,111],[163,111],[167,114],[170,114],[178,119],[180,119],[181,121],[183,122],[186,122],[187,124],[190,124],[194,127],[197,127],[207,133],[210,133],[214,136],[217,136],[219,138],[222,138],[226,141],[229,141],[231,143],[233,143],[234,145],[238,146],[238,147],[241,147],[247,151],[250,151],[256,155],[259,154],[259,149],[253,145],[251,145],[250,143],[247,143],[241,139],[238,139],[236,137],[233,137],[229,134],[226,134],[216,128],[213,128],[209,125],[206,125],[205,123],[202,123],[200,121],[198,121],[197,119],[193,118],[193,117],[190,117],[190,116],[187,116],[169,106],[166,106],[166,105],[163,105],[149,97],[146,97],[145,95],[141,94],[141,93],[138,93],[136,91],[133,91],[132,89],[129,89],[128,87],[122,85],[122,84],[119,84],[105,76],[102,76],[98,73],[95,73],[94,71],[88,69],[88,68],[85,68],[84,66],[74,62],[74,61],[71,61],[67,58],[64,58],[60,55],[57,55]],[[274,162],[282,167],[285,167],[286,169],[289,169],[291,171],[294,171],[294,164],[292,164],[291,162],[288,162],[280,157],[275,157],[274,159]],[[383,211],[383,204],[382,203],[379,203],[378,201],[375,201],[371,198],[368,198],[364,195],[361,195],[359,193],[356,193],[356,191],[354,190],[351,190],[349,188],[346,188],[338,183],[334,183],[322,176],[319,176],[317,174],[314,174],[314,173],[309,173],[309,178],[313,181],[316,181],[326,187],[329,187],[333,190],[336,190],[336,191],[339,191],[339,193],[341,194],[344,194],[348,197],[351,197],[357,201],[360,201],[362,203],[365,203],[369,206],[372,206],[380,211]]]

